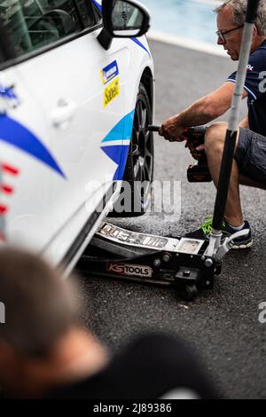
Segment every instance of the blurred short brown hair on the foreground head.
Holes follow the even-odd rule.
[[[30,358],[45,358],[79,318],[72,280],[41,258],[12,248],[0,249],[0,300],[5,324],[0,341]]]

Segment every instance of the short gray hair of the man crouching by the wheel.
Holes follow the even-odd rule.
[[[214,12],[221,12],[224,7],[231,6],[232,9],[232,23],[236,26],[241,26],[246,20],[247,0],[227,0],[220,6],[216,7]],[[259,12],[255,26],[258,29],[259,35],[266,35],[266,1],[260,0]]]

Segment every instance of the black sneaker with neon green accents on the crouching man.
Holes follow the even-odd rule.
[[[200,229],[196,230],[195,232],[186,233],[186,238],[192,238],[192,239],[198,239],[198,240],[209,240],[210,232],[213,228],[213,216],[207,216],[206,221],[201,224]],[[245,220],[245,224],[243,226],[243,229],[249,229],[249,232],[247,236],[238,238],[236,240],[233,240],[233,247],[232,249],[247,249],[251,248],[253,245],[251,230],[249,223]],[[223,238],[228,238],[232,234],[236,233],[236,231],[231,227],[230,224],[227,223],[227,221],[223,220]]]

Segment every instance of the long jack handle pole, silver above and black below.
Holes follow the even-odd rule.
[[[235,93],[231,105],[231,118],[228,125],[228,130],[226,132],[220,177],[217,186],[215,213],[213,219],[214,234],[217,234],[217,232],[221,231],[223,227],[223,216],[226,208],[231,179],[231,168],[238,136],[240,103],[243,94],[244,83],[246,80],[246,66],[250,55],[254,22],[257,18],[259,3],[260,0],[248,0],[247,3],[246,24],[242,38]]]

